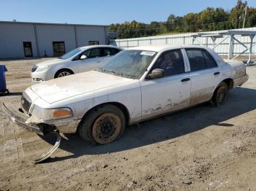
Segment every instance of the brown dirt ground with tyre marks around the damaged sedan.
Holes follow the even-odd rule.
[[[1,61],[18,106],[44,59]],[[32,160],[50,141],[14,125],[0,110],[0,190],[256,190],[256,66],[221,107],[201,104],[127,128],[108,145],[62,135],[50,160]]]

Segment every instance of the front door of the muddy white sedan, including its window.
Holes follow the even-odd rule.
[[[140,83],[142,120],[189,105],[191,80],[183,55],[184,52],[179,49],[163,52],[154,63],[151,71],[162,69],[164,70],[164,77],[145,79]]]

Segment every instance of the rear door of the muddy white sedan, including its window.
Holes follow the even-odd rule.
[[[209,101],[219,84],[221,70],[207,50],[189,48],[186,52],[192,81],[189,105]]]

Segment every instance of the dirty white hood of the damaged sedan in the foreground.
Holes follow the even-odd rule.
[[[99,71],[87,71],[32,85],[31,90],[48,104],[107,87],[121,85],[134,79],[118,77]]]

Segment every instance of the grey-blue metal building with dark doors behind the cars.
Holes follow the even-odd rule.
[[[108,26],[0,21],[0,59],[59,56],[89,44],[108,44]]]

